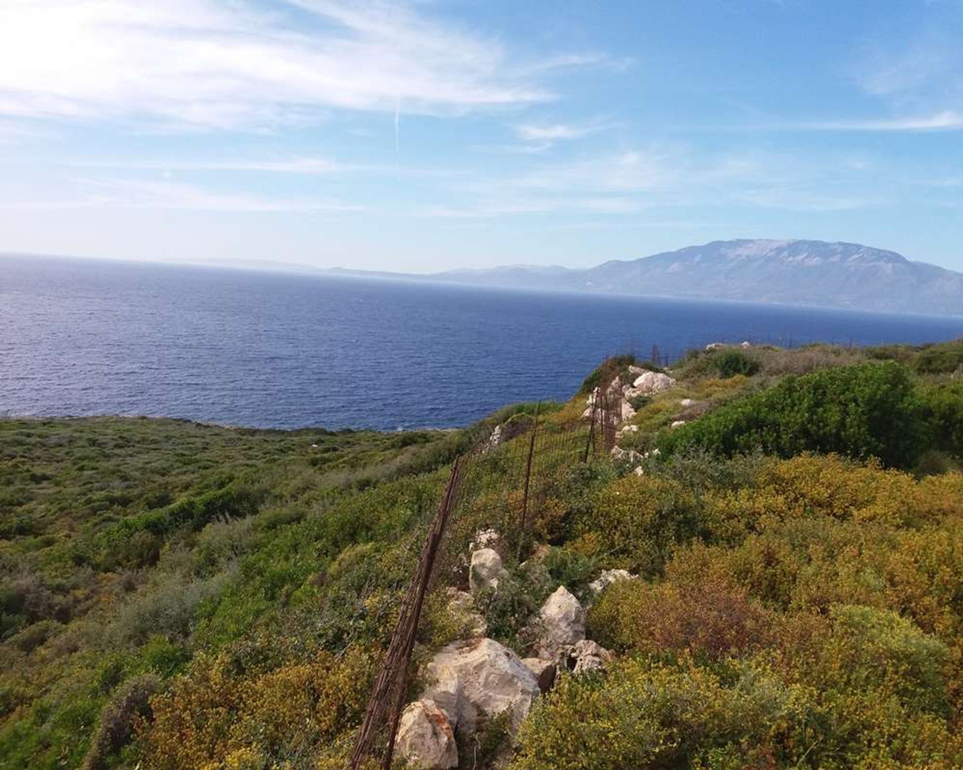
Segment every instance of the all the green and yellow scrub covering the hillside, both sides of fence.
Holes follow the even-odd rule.
[[[620,433],[638,455],[560,472],[534,522],[550,548],[481,602],[521,650],[556,586],[587,601],[627,569],[588,613],[616,661],[563,675],[510,757],[493,730],[464,766],[963,766],[961,358],[672,367]],[[548,429],[601,378],[543,405]],[[344,767],[449,463],[533,414],[402,434],[0,423],[0,766]],[[418,655],[464,632],[431,596]]]

